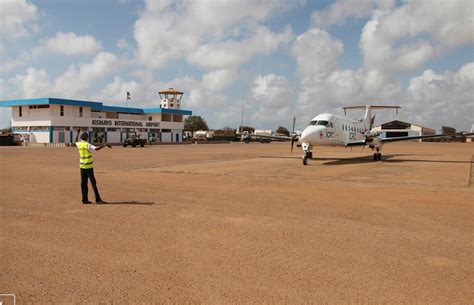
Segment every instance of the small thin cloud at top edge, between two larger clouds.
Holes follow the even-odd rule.
[[[395,5],[394,0],[339,0],[327,9],[311,14],[313,27],[330,27],[342,25],[347,18],[362,18],[370,16],[374,9],[386,10]]]

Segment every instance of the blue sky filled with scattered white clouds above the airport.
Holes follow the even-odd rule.
[[[242,105],[244,125],[301,130],[370,104],[402,107],[376,124],[470,130],[474,1],[0,0],[0,100],[157,107],[166,88],[213,129]]]

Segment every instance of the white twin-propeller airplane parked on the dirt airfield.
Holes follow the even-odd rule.
[[[470,136],[474,133],[450,133],[450,134],[434,134],[421,136],[391,137],[383,138],[378,132],[372,131],[375,115],[372,116],[372,110],[379,109],[398,109],[400,106],[348,106],[343,107],[344,113],[352,109],[365,109],[364,118],[361,120],[342,117],[330,113],[322,113],[315,116],[309,125],[301,132],[301,135],[293,132],[287,136],[268,136],[258,135],[280,140],[291,141],[291,151],[293,145],[298,142],[298,147],[303,149],[303,165],[308,165],[308,161],[313,158],[313,146],[368,146],[374,151],[374,161],[382,160],[382,145],[387,142],[407,141],[415,139],[427,139],[437,137],[457,137]],[[295,118],[293,118],[293,130],[295,126]]]

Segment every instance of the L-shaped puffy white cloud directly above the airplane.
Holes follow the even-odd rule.
[[[303,121],[321,112],[338,113],[342,106],[390,103],[399,96],[399,82],[380,70],[339,67],[342,52],[342,42],[320,29],[312,28],[295,40],[292,55],[301,77],[295,112]]]

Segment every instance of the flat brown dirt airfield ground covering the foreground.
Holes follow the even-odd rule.
[[[0,148],[0,294],[17,304],[473,303],[474,144]],[[90,197],[93,199],[93,197]]]

